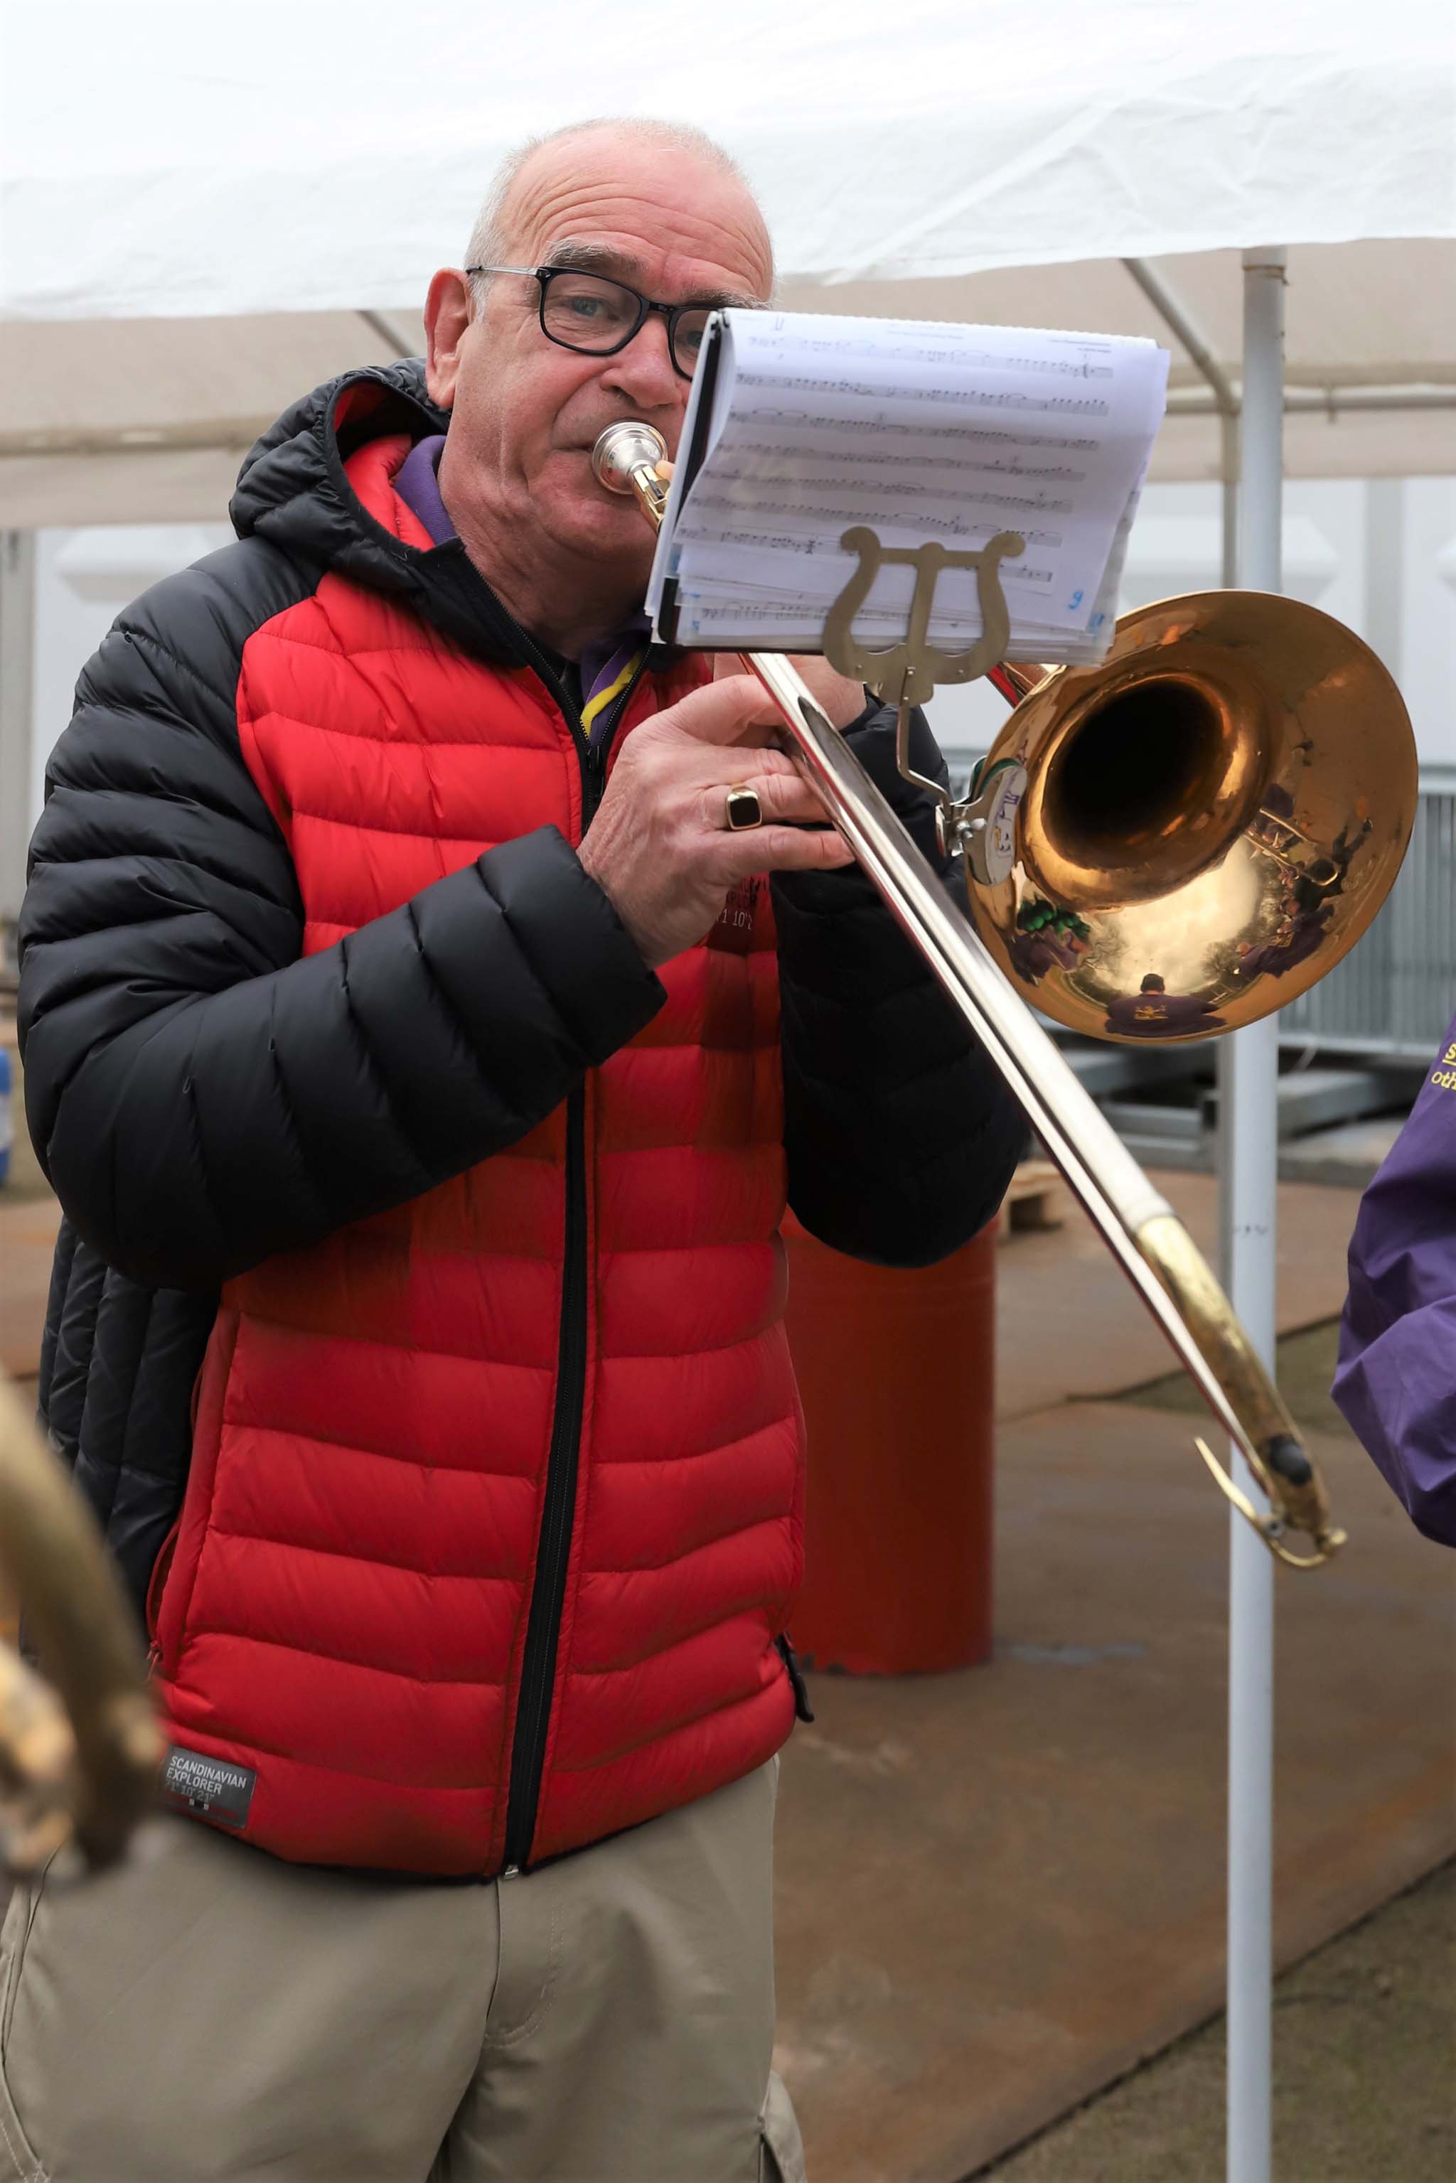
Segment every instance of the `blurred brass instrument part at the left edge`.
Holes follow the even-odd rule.
[[[72,1838],[109,1864],[162,1759],[142,1648],[89,1511],[2,1375],[0,1583],[55,1677],[0,1646],[0,1869],[37,1873]]]

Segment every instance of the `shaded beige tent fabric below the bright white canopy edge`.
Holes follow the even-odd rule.
[[[461,249],[463,236],[423,207],[421,225],[432,229],[432,258]],[[1238,380],[1238,253],[1166,258],[1153,271]],[[781,301],[1089,325],[1170,343],[1118,258],[939,282],[827,286],[786,277]],[[1290,399],[1312,406],[1286,421],[1286,474],[1456,474],[1456,242],[1294,249],[1288,301]],[[286,402],[338,371],[419,345],[419,310],[404,306],[107,323],[0,319],[0,526],[207,522],[225,504],[242,452]],[[1222,443],[1207,382],[1179,343],[1170,347],[1172,415],[1157,439],[1153,478],[1218,478]],[[1371,402],[1382,406],[1353,406]]]

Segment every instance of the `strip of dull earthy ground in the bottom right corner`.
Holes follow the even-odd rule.
[[[1220,2183],[1222,2019],[980,2176]],[[1316,1949],[1275,1987],[1279,2183],[1456,2174],[1456,1864]]]

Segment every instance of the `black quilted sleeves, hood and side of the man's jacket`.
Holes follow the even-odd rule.
[[[65,1209],[41,1419],[138,1605],[181,1504],[218,1284],[517,1142],[653,1013],[657,980],[552,830],[439,880],[347,958],[299,961],[293,864],[236,725],[262,622],[336,570],[476,657],[535,666],[576,720],[463,548],[402,546],[347,485],[358,439],[445,424],[419,365],[295,404],[244,463],[238,544],[120,616],[48,768],[20,985],[26,1116]],[[943,764],[917,733],[919,768]],[[851,736],[928,843],[888,714]],[[843,1251],[941,1257],[1000,1203],[1019,1111],[862,873],[775,880],[775,917],[790,1203]],[[371,1024],[384,1087],[360,1070]]]

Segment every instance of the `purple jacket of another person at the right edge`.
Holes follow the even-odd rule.
[[[1456,1546],[1456,1022],[1360,1201],[1334,1399],[1417,1530]]]

